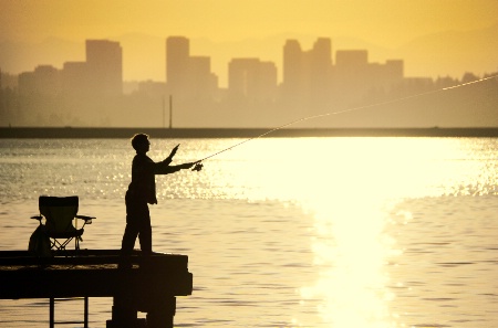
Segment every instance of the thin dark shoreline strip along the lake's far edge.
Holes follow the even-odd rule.
[[[129,138],[145,133],[154,138],[256,138],[270,128],[83,128],[0,127],[0,138]],[[292,128],[266,137],[498,137],[496,128]]]

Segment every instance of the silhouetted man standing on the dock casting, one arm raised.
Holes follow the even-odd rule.
[[[159,162],[154,162],[146,154],[151,142],[145,134],[137,134],[132,138],[132,146],[136,156],[132,162],[132,182],[126,191],[126,228],[121,244],[122,255],[129,258],[135,240],[138,236],[144,255],[152,253],[152,228],[148,204],[157,204],[155,174],[169,174],[181,169],[189,169],[195,162],[170,166],[177,145],[169,156]]]

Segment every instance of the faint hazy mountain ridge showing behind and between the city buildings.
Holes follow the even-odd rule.
[[[485,30],[488,35],[498,33],[498,23],[495,27]],[[481,31],[463,33],[467,35],[478,35]],[[283,59],[281,47],[286,40],[295,39],[303,47],[310,47],[317,38],[331,38],[334,49],[342,50],[369,50],[369,56],[373,62],[385,62],[390,59],[401,59],[407,63],[405,72],[411,76],[437,77],[461,77],[465,73],[475,73],[477,75],[488,74],[498,71],[498,62],[495,60],[498,55],[498,44],[489,43],[486,50],[476,49],[479,53],[474,59],[468,54],[471,52],[466,45],[473,38],[465,38],[458,45],[460,51],[453,52],[458,64],[447,61],[448,52],[452,49],[438,45],[438,51],[433,56],[419,55],[416,49],[430,49],[438,39],[450,38],[458,39],[461,33],[448,32],[440,35],[427,35],[412,43],[406,43],[398,49],[385,49],[372,44],[361,39],[331,38],[328,35],[303,35],[303,34],[281,34],[269,36],[264,40],[251,39],[237,42],[216,43],[208,39],[191,39],[191,52],[195,55],[209,55],[211,57],[212,71],[220,80],[221,87],[228,84],[228,63],[232,57],[259,57],[262,61],[276,63],[279,70],[279,82],[282,81]],[[496,34],[494,34],[496,35]],[[168,36],[159,38],[142,34],[127,34],[116,38],[103,38],[102,40],[113,40],[120,42],[127,53],[123,59],[124,81],[165,81],[164,40]],[[483,38],[480,38],[483,39]],[[86,40],[86,39],[85,39]],[[51,65],[62,68],[66,61],[84,60],[85,40],[72,42],[49,38],[37,44],[13,44],[0,42],[0,68],[4,73],[20,74],[22,72],[33,71],[38,65]],[[470,43],[476,43],[471,41]],[[152,49],[152,52],[147,50]],[[466,49],[466,51],[461,51]],[[3,51],[2,51],[3,50]],[[271,54],[268,54],[271,53]],[[239,54],[239,55],[238,55]],[[53,57],[50,60],[49,57]],[[464,59],[465,57],[465,59]],[[138,63],[138,64],[137,64]]]

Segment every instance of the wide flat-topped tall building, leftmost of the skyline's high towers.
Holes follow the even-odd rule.
[[[86,67],[92,93],[105,96],[123,93],[123,50],[118,42],[86,40]]]

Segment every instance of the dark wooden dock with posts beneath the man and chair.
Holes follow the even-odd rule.
[[[77,253],[76,253],[77,252]],[[118,267],[120,251],[65,251],[52,257],[35,257],[28,251],[0,251],[0,299],[49,298],[50,327],[54,300],[83,297],[87,327],[89,297],[113,297],[112,318],[106,327],[169,328],[176,296],[193,292],[188,256],[134,252],[131,266]],[[137,313],[146,319],[137,319]]]

